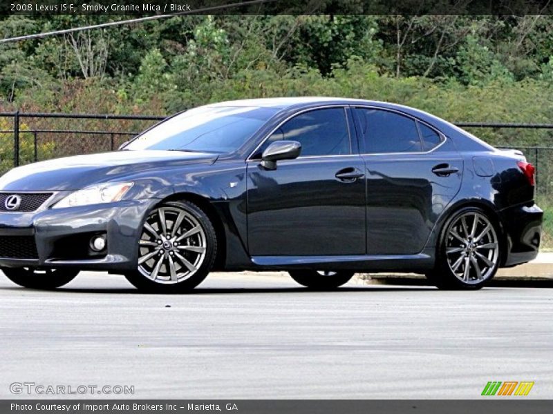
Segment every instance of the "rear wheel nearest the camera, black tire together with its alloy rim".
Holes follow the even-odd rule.
[[[476,219],[475,230],[472,230],[474,221],[471,217]],[[463,218],[465,225],[462,224]],[[463,234],[465,231],[466,235]],[[484,235],[478,239],[482,233]],[[461,208],[442,228],[436,248],[435,268],[427,273],[427,279],[444,290],[478,290],[489,283],[497,272],[501,242],[497,221],[485,210]]]

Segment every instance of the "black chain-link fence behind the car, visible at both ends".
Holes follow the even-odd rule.
[[[0,112],[0,174],[14,166],[34,161],[116,150],[138,132],[149,128],[162,116],[44,114]],[[553,124],[499,124],[462,122],[458,126],[478,135],[481,128],[531,130],[538,141],[553,138]],[[511,134],[512,135],[512,134]],[[509,146],[523,151],[536,166],[536,201],[544,210],[543,250],[553,250],[553,146]],[[553,144],[553,141],[552,141]],[[497,145],[496,145],[497,146]]]

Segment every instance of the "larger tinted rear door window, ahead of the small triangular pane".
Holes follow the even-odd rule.
[[[421,150],[419,132],[413,119],[395,112],[356,109],[368,154],[417,152]]]

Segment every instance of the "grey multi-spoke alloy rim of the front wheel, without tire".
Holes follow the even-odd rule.
[[[205,260],[205,230],[177,206],[153,210],[139,241],[138,270],[159,284],[177,284],[194,275]]]

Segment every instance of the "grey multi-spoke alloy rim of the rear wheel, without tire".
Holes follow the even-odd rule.
[[[449,227],[445,254],[453,275],[464,284],[479,284],[494,275],[499,258],[498,237],[485,215],[468,212]]]

